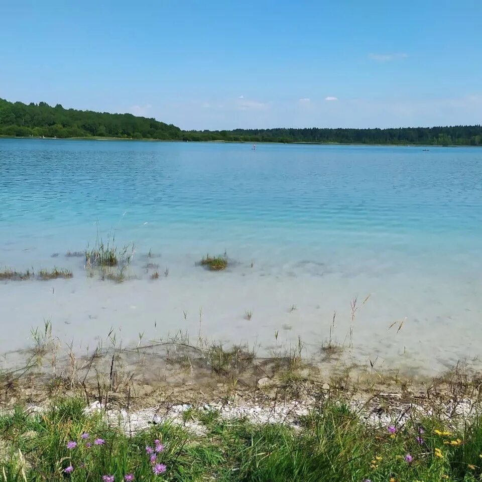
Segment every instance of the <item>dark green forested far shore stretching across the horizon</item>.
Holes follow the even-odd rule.
[[[65,109],[46,102],[24,104],[0,98],[0,135],[15,137],[159,139],[341,144],[482,145],[482,126],[399,129],[234,129],[181,131],[172,124],[132,114]]]

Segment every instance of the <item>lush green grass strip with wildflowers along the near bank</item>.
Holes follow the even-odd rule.
[[[300,417],[296,428],[224,420],[199,409],[182,418],[126,434],[101,413],[86,414],[76,399],[58,400],[41,414],[17,407],[0,416],[0,473],[6,482],[91,482],[104,475],[123,481],[127,474],[176,482],[475,482],[482,474],[480,413],[450,427],[436,416],[372,426],[342,402],[326,402]],[[180,425],[192,421],[205,434]],[[94,444],[97,438],[104,443]],[[166,466],[162,475],[153,473],[146,453],[155,440],[163,444],[156,456]],[[69,441],[76,446],[68,449]]]

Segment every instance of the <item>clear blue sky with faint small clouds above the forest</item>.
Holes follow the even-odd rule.
[[[0,97],[181,129],[482,123],[480,0],[0,0]]]

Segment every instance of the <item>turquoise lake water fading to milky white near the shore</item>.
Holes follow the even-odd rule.
[[[334,339],[377,367],[434,373],[480,354],[482,150],[250,148],[0,139],[0,267],[74,273],[0,284],[0,351],[51,319],[82,346],[111,326],[134,343],[195,338],[201,324],[265,350],[299,335],[317,353],[336,311]],[[136,279],[90,278],[82,258],[65,258],[97,231],[135,244]],[[196,266],[224,251],[225,272]]]

